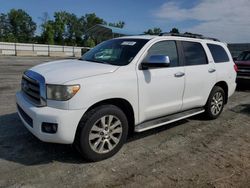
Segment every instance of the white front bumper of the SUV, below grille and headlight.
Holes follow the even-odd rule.
[[[18,115],[23,124],[37,138],[44,142],[61,144],[72,144],[74,142],[78,123],[85,110],[62,110],[48,106],[36,107],[24,98],[22,92],[16,94],[16,103],[19,106]],[[27,117],[24,117],[25,113],[32,119],[32,126],[30,122],[27,122]],[[43,122],[58,124],[57,132],[55,134],[42,132]]]

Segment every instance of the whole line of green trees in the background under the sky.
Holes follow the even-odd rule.
[[[123,28],[124,21],[109,23],[95,13],[77,16],[66,11],[55,12],[53,18],[48,13],[41,17],[41,24],[37,26],[32,17],[22,9],[11,9],[8,13],[0,13],[0,41],[20,43],[41,43],[73,46],[93,47],[98,41],[94,37],[86,36],[88,29],[96,24],[104,24]],[[36,31],[40,27],[40,33]],[[152,28],[145,34],[158,35],[160,28]],[[179,33],[177,28],[170,32]]]

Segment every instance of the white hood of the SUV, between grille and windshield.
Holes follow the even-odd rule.
[[[118,68],[109,64],[71,59],[44,63],[30,70],[43,75],[46,83],[63,84],[80,78],[112,73]]]

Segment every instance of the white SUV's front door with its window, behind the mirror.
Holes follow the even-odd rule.
[[[169,56],[170,66],[137,70],[140,121],[180,111],[184,92],[184,67],[179,65],[176,42],[156,42],[146,53],[144,61],[152,55]]]

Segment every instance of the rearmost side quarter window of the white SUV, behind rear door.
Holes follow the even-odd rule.
[[[207,44],[215,63],[228,62],[229,57],[224,48],[216,44]]]

